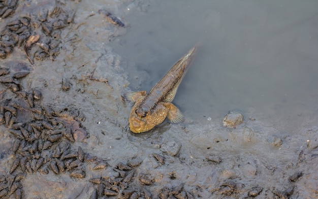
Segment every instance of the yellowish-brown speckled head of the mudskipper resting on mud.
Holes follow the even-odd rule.
[[[135,134],[148,131],[154,126],[161,124],[168,115],[168,109],[163,105],[158,104],[153,110],[143,112],[138,109],[139,106],[136,104],[132,108],[129,116],[129,128]]]

